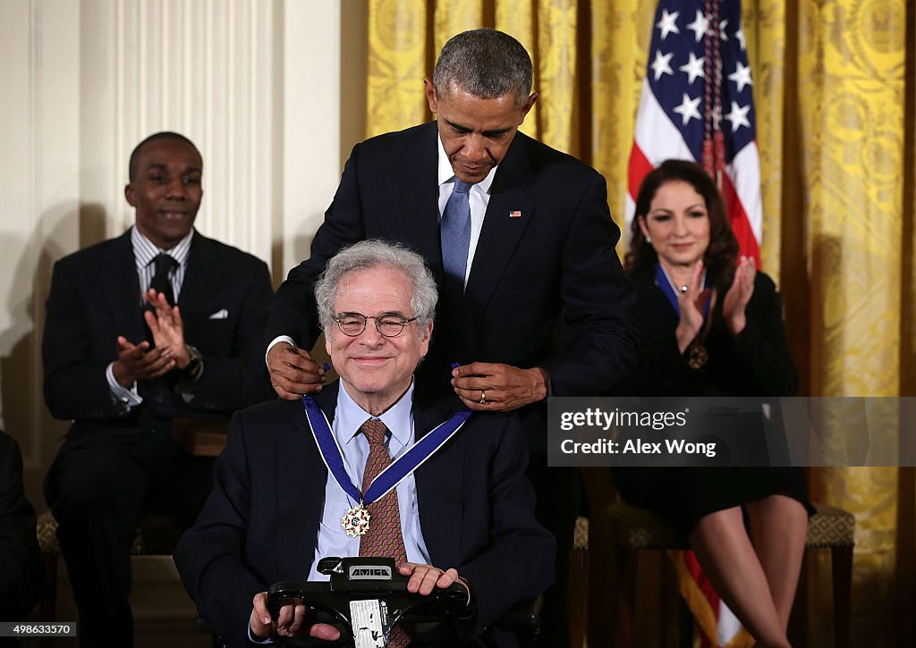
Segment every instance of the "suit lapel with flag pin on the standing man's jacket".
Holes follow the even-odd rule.
[[[529,222],[535,217],[536,203],[525,191],[532,174],[524,150],[524,137],[520,133],[515,136],[502,164],[496,169],[484,227],[474,252],[474,265],[464,290],[460,329],[468,329],[479,319]],[[510,216],[515,212],[520,215]]]

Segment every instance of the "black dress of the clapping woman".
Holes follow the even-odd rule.
[[[655,285],[654,268],[631,275],[637,287],[637,320],[644,348],[623,390],[638,396],[791,396],[798,375],[791,362],[782,307],[769,276],[757,274],[747,305],[747,326],[737,339],[725,328],[724,296],[717,299],[704,344],[708,361],[692,369],[678,350],[679,316]],[[627,502],[660,514],[684,536],[704,515],[772,494],[802,502],[809,514],[799,468],[615,468]]]

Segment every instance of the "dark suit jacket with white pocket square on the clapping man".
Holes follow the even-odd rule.
[[[271,297],[263,261],[195,232],[178,305],[185,340],[203,355],[201,379],[187,403],[172,392],[167,404],[147,399],[128,414],[112,399],[105,367],[117,358],[118,335],[135,344],[146,337],[130,232],[60,259],[42,340],[51,414],[74,419],[72,435],[136,427],[149,415],[229,414],[270,398],[263,336]],[[211,319],[222,310],[224,319]]]

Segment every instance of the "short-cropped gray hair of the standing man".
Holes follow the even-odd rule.
[[[437,95],[457,84],[478,99],[514,93],[520,108],[531,92],[531,58],[521,43],[496,29],[472,29],[449,38],[432,84]]]

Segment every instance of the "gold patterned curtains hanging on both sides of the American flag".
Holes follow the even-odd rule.
[[[764,270],[786,301],[802,394],[916,395],[913,0],[745,0]],[[597,168],[623,224],[655,3],[372,0],[367,134],[431,118],[422,79],[454,33],[496,27],[535,61],[523,130]],[[914,424],[916,428],[916,424]],[[812,498],[856,514],[853,645],[916,636],[916,477],[813,469]],[[808,570],[810,643],[829,637],[829,569]]]

